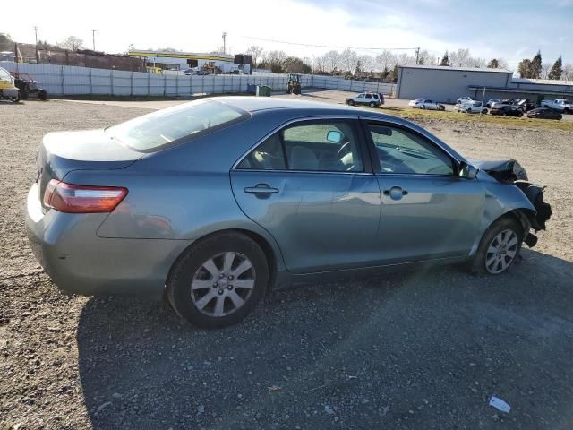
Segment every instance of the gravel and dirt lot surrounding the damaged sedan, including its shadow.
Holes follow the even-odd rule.
[[[165,304],[64,296],[27,245],[41,136],[145,112],[129,106],[0,103],[0,429],[571,428],[572,132],[424,119],[548,186],[549,231],[507,275],[276,291],[244,323],[201,331]]]

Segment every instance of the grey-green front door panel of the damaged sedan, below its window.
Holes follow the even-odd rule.
[[[485,196],[478,181],[446,176],[378,175],[384,262],[469,254]]]

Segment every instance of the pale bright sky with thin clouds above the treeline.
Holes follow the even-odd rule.
[[[504,58],[512,70],[537,50],[543,63],[560,55],[573,63],[573,0],[28,0],[30,13],[6,3],[4,15],[19,18],[3,20],[0,32],[17,41],[33,43],[37,26],[38,39],[56,43],[73,35],[91,48],[95,29],[96,49],[109,53],[131,44],[209,52],[223,45],[225,31],[231,54],[252,45],[309,58],[331,46],[371,55],[376,48],[420,47],[434,56],[469,48],[472,56]],[[414,54],[395,51],[403,52]]]

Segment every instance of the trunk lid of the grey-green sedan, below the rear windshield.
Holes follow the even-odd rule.
[[[46,134],[36,159],[36,182],[42,207],[51,179],[62,180],[72,170],[126,168],[144,155],[126,148],[103,129]]]

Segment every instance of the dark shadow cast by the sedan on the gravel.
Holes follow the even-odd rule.
[[[91,298],[77,331],[91,424],[475,428],[497,394],[512,426],[565,428],[573,263],[523,257],[500,277],[450,266],[273,291],[215,331],[166,302]]]

